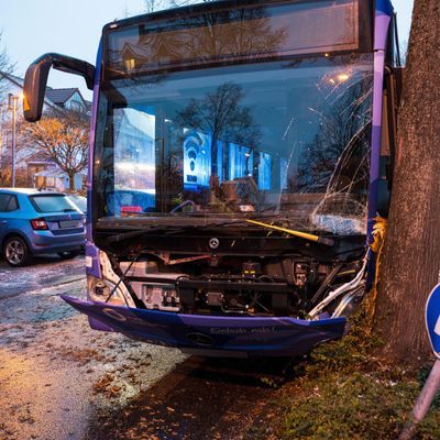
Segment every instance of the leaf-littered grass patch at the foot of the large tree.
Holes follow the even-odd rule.
[[[317,348],[272,404],[283,416],[271,438],[397,439],[430,369],[386,365],[371,354],[380,344],[359,316],[345,338]],[[440,439],[439,398],[414,438]]]

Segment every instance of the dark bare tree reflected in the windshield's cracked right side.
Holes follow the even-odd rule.
[[[319,130],[307,144],[289,187],[292,191],[346,194],[358,188],[366,195],[373,77],[359,73],[326,94],[326,105],[314,109]]]

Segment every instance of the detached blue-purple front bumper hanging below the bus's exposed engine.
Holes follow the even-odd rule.
[[[89,317],[97,330],[116,331],[153,344],[204,355],[294,356],[341,338],[345,318],[307,321],[283,317],[179,315],[62,298]]]

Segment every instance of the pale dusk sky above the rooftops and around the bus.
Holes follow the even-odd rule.
[[[102,26],[143,11],[143,0],[0,0],[2,45],[23,76],[33,59],[46,52],[59,52],[95,64]],[[413,0],[394,0],[399,19],[400,41],[408,40]],[[52,87],[79,87],[91,94],[84,80],[52,72]]]

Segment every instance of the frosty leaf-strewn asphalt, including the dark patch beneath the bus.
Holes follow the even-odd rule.
[[[84,257],[0,262],[1,440],[253,438],[278,366],[92,331],[59,298],[85,285]]]

